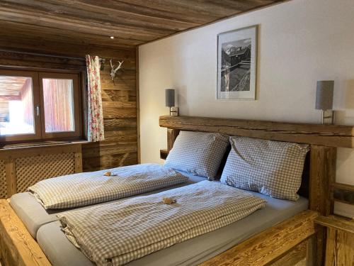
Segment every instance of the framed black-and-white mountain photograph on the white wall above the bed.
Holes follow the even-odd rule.
[[[256,99],[258,26],[217,35],[217,99]]]

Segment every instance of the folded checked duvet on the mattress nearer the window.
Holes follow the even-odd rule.
[[[97,204],[171,187],[188,180],[182,174],[156,164],[131,165],[104,171],[69,174],[42,180],[28,192],[45,209],[68,209]]]

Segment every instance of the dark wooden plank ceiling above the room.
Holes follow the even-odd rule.
[[[134,48],[280,1],[0,0],[0,48]]]

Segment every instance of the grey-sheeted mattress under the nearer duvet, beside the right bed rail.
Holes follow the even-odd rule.
[[[132,261],[127,265],[199,265],[201,262],[209,260],[211,257],[232,248],[232,246],[252,235],[308,208],[308,201],[303,197],[300,197],[298,201],[287,201],[273,199],[256,192],[251,193],[267,201],[265,209],[258,210],[229,226],[186,240],[170,248],[159,250],[139,260]],[[53,266],[93,265],[67,239],[60,229],[59,221],[41,226],[37,233],[37,240]]]

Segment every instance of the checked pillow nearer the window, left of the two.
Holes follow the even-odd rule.
[[[181,131],[166,158],[165,166],[213,180],[227,145],[227,135]]]

